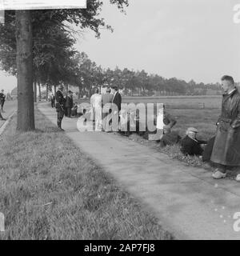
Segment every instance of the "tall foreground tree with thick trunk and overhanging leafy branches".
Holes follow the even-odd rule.
[[[124,11],[124,6],[128,6],[128,0],[110,0],[111,4],[115,4],[118,6],[118,9]],[[112,28],[109,25],[106,25],[103,18],[99,18],[99,14],[102,10],[103,2],[99,0],[88,0],[87,1],[87,9],[86,10],[27,10],[27,11],[16,11],[13,12],[14,16],[16,14],[16,25],[17,25],[17,69],[18,69],[18,86],[20,86],[19,95],[22,98],[22,94],[26,93],[27,98],[26,102],[20,102],[20,98],[18,99],[18,130],[34,130],[34,94],[33,94],[33,74],[32,74],[32,66],[33,60],[30,61],[30,58],[33,57],[32,53],[32,27],[33,30],[47,30],[50,26],[58,26],[59,30],[65,30],[71,36],[72,29],[70,25],[76,25],[80,27],[80,29],[90,29],[94,30],[96,37],[100,37],[100,29],[102,27],[106,27],[109,30]],[[30,19],[30,14],[34,17],[34,22],[32,23]],[[2,26],[0,27],[2,29]],[[15,32],[15,31],[14,31]],[[1,32],[0,32],[1,33]],[[2,33],[1,33],[2,34]],[[12,37],[11,34],[10,38]],[[4,38],[6,38],[6,34],[3,34]],[[22,40],[22,38],[24,38]],[[1,39],[0,39],[1,40]],[[29,42],[26,42],[29,40]],[[6,38],[6,42],[3,45],[4,50],[9,51],[11,55],[14,55],[14,46],[11,44],[16,44]],[[30,49],[31,46],[31,49]],[[2,48],[2,43],[0,45]],[[20,52],[18,52],[20,50]],[[24,55],[24,53],[26,55]],[[22,63],[23,62],[23,63]],[[12,64],[12,65],[11,65]],[[9,70],[12,69],[14,73],[14,62],[12,62],[9,66]],[[21,66],[22,65],[22,66]],[[3,66],[6,66],[3,64]],[[16,65],[15,65],[16,66]],[[30,71],[26,73],[26,70]],[[23,86],[25,83],[25,86]],[[31,83],[31,85],[30,85]],[[26,92],[27,88],[27,92]],[[31,96],[30,96],[31,95]],[[24,101],[24,98],[21,99]],[[23,107],[24,106],[24,107]],[[31,121],[30,121],[31,120]]]

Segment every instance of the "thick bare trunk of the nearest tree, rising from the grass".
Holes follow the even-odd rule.
[[[33,33],[30,10],[16,10],[18,69],[17,129],[34,130]]]

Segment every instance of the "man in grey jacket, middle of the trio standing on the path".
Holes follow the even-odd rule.
[[[106,88],[106,94],[102,94],[102,128],[106,132],[110,129],[110,109],[114,98],[113,94],[110,94],[110,87]]]

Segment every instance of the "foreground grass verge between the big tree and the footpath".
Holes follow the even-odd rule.
[[[0,238],[171,239],[38,111],[36,127],[18,134],[14,118],[0,138]]]

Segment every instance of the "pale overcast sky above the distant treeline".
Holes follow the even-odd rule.
[[[240,0],[130,0],[126,15],[103,2],[114,33],[102,30],[97,39],[86,31],[76,45],[98,65],[187,82],[218,82],[223,74],[240,81],[240,24],[233,22]],[[0,79],[0,89],[16,84],[2,73]]]

